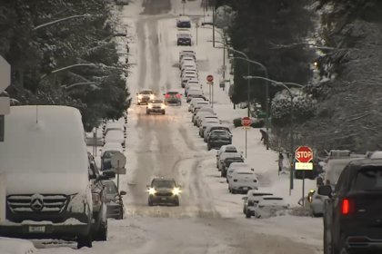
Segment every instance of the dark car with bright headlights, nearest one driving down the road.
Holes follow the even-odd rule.
[[[179,206],[180,185],[172,178],[155,178],[147,185],[148,205],[173,204]]]

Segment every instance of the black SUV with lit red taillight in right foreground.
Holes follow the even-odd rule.
[[[324,204],[324,253],[382,253],[382,160],[351,161],[335,190],[320,186]]]

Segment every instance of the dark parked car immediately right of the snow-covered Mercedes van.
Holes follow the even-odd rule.
[[[103,181],[106,186],[106,205],[107,205],[107,218],[114,218],[116,220],[124,219],[124,201],[122,196],[126,195],[126,191],[121,190],[118,192],[116,183],[114,181]]]

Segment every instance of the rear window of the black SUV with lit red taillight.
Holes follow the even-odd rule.
[[[382,190],[382,167],[370,167],[357,172],[356,190]]]

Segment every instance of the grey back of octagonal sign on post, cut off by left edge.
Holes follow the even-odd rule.
[[[0,55],[0,93],[5,91],[11,84],[11,65],[8,64],[4,57]],[[5,114],[11,111],[10,99],[8,97],[0,97],[0,142],[5,139]],[[5,222],[6,216],[6,187],[5,174],[0,171],[0,223]]]

